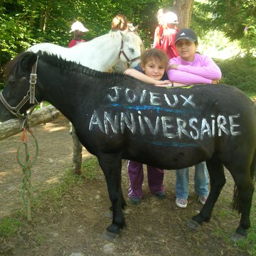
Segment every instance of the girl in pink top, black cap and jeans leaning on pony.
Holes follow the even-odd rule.
[[[198,37],[191,28],[183,28],[176,34],[175,46],[179,56],[169,60],[168,78],[185,85],[208,83],[216,84],[221,78],[221,71],[214,61],[196,53]],[[176,205],[186,208],[188,204],[188,168],[176,170]],[[196,164],[194,189],[198,201],[206,203],[208,198],[208,171],[206,162]]]

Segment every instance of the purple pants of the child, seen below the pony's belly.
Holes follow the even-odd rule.
[[[164,170],[146,165],[149,189],[151,193],[164,192]],[[128,161],[129,198],[142,197],[142,183],[144,179],[143,164],[137,161]]]

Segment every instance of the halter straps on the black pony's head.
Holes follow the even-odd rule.
[[[6,102],[6,100],[4,99],[4,95],[3,95],[3,91],[1,90],[0,92],[0,100],[1,102],[4,104],[4,107],[6,107],[7,110],[9,110],[9,112],[11,112],[11,114],[14,114],[15,117],[20,118],[20,119],[25,119],[26,117],[28,117],[31,112],[34,110],[34,108],[36,107],[36,105],[38,105],[38,101],[36,100],[35,97],[35,85],[36,85],[36,79],[37,79],[37,75],[36,75],[36,69],[37,69],[37,64],[38,64],[38,56],[36,59],[36,63],[33,65],[32,70],[31,70],[31,75],[30,75],[30,79],[29,79],[29,90],[26,94],[26,96],[23,97],[23,100],[21,100],[21,102],[18,103],[18,105],[16,105],[16,107],[11,107],[9,105],[8,102]],[[33,107],[31,107],[31,110],[28,114],[26,114],[26,117],[23,116],[23,114],[21,114],[20,110],[21,107],[23,107],[26,102],[33,104]],[[35,103],[36,101],[36,103]]]

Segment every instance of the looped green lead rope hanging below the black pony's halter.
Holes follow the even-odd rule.
[[[23,124],[24,126],[24,124]],[[31,160],[31,156],[28,151],[28,134],[29,132],[33,139],[35,140],[36,143],[36,156],[33,160]],[[31,167],[33,164],[35,164],[36,159],[38,157],[38,142],[33,135],[33,132],[30,129],[27,129],[26,126],[23,127],[23,136],[21,137],[21,144],[18,146],[17,149],[17,161],[18,164],[22,167],[22,173],[23,173],[23,186],[22,186],[22,199],[26,203],[26,208],[27,208],[27,218],[28,218],[28,223],[31,223],[32,221],[32,216],[31,216],[31,201],[33,198],[33,193],[32,193],[32,184],[31,184]],[[24,163],[20,159],[20,154],[21,154],[21,146],[24,146],[25,149],[25,161]]]

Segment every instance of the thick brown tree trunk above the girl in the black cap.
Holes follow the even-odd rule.
[[[192,9],[193,0],[174,0],[172,11],[178,16],[178,29],[189,28]]]

